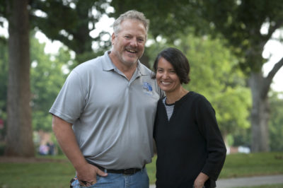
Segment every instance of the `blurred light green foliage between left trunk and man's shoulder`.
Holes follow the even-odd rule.
[[[68,69],[68,63],[72,64],[71,55],[64,48],[60,48],[53,57],[45,54],[45,44],[40,44],[34,37],[30,45],[33,129],[51,131],[52,116],[48,111],[67,78],[64,69]]]

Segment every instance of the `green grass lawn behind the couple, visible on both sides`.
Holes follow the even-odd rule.
[[[71,163],[64,156],[48,158],[54,159],[54,162],[0,163],[0,187],[69,187],[69,180],[74,177]],[[55,160],[62,158],[65,160],[59,162]],[[153,158],[153,163],[146,165],[151,184],[155,182],[155,162],[156,156]],[[276,174],[283,174],[283,152],[227,155],[219,178]],[[272,187],[283,187],[283,185],[272,185]]]

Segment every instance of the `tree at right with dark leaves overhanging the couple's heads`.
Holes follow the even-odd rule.
[[[172,4],[174,6],[172,6]],[[154,36],[164,35],[175,40],[176,33],[195,28],[195,33],[203,35],[209,30],[215,37],[224,37],[226,45],[238,57],[238,65],[248,76],[252,93],[251,109],[252,151],[269,151],[267,93],[277,71],[283,66],[280,59],[270,73],[262,75],[262,51],[275,30],[283,25],[283,4],[280,0],[245,1],[164,1],[152,0],[148,4],[137,0],[112,0],[115,15],[134,7],[150,18]],[[149,8],[152,7],[152,8]],[[162,20],[162,21],[161,21]],[[162,26],[163,25],[163,29]],[[260,33],[262,25],[268,26],[267,33]],[[190,30],[189,30],[190,31]]]

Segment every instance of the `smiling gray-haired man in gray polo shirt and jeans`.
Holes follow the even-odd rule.
[[[163,95],[139,62],[149,20],[127,11],[113,28],[112,50],[71,71],[50,109],[57,141],[76,169],[71,187],[149,187],[144,165],[153,156]]]

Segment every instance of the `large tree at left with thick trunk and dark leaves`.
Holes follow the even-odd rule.
[[[99,13],[104,11],[104,3],[103,0],[0,1],[0,16],[7,18],[9,23],[6,155],[34,155],[30,110],[30,28],[39,28],[50,39],[63,41],[82,62],[92,54],[93,39],[89,36],[91,28],[88,27],[93,23],[94,28],[100,18]],[[76,8],[71,8],[71,5]],[[96,8],[96,16],[92,14],[93,8]],[[35,16],[38,10],[46,11],[47,16]]]

